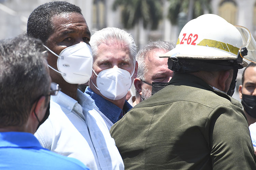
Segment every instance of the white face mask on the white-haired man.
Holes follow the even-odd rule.
[[[95,75],[97,75],[96,83],[98,87],[94,83],[93,85],[108,99],[122,99],[131,88],[131,77],[134,70],[131,75],[128,71],[120,68],[102,70],[99,74],[96,74],[93,70]]]

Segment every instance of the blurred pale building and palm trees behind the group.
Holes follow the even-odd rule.
[[[0,0],[0,39],[26,32],[27,18],[37,6],[52,0]],[[91,33],[117,27],[133,36],[138,49],[148,41],[176,44],[183,26],[212,13],[256,35],[256,0],[66,0],[80,6]],[[241,84],[242,71],[237,78]],[[238,88],[233,97],[239,101]]]

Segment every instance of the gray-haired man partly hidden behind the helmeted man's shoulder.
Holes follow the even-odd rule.
[[[168,58],[159,58],[159,55],[173,48],[174,46],[167,41],[153,41],[137,53],[138,75],[134,79],[136,102],[133,106],[168,85],[173,71],[168,69]]]

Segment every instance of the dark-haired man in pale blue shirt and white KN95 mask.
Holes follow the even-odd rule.
[[[79,159],[92,170],[123,170],[122,158],[94,101],[78,90],[88,82],[93,57],[90,31],[80,7],[64,1],[42,4],[30,14],[27,34],[43,41],[48,66],[61,91],[51,97],[49,118],[35,136],[44,148]]]

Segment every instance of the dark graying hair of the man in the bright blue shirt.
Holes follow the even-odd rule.
[[[0,40],[0,127],[22,126],[33,103],[49,93],[44,50],[41,40],[26,35]]]

